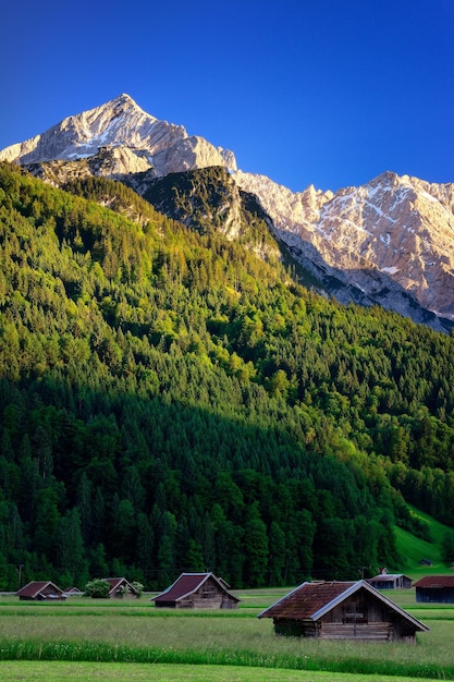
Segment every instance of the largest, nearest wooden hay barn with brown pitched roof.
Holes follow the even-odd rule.
[[[277,634],[320,640],[414,643],[429,630],[366,581],[303,583],[258,618],[272,618]]]

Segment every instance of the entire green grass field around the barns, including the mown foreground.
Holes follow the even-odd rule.
[[[59,604],[4,597],[0,677],[53,682],[71,669],[75,680],[113,681],[454,680],[454,608],[419,605],[414,590],[396,590],[391,598],[430,628],[415,646],[318,642],[277,637],[270,620],[257,619],[286,593],[237,590],[237,610],[191,612],[155,609],[147,597]]]

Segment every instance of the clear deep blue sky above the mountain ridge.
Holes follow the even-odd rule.
[[[293,191],[454,182],[453,0],[3,5],[0,148],[127,93]]]

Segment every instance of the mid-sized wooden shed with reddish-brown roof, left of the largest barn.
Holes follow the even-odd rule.
[[[182,573],[150,601],[155,601],[158,608],[236,609],[240,599],[213,573]]]

